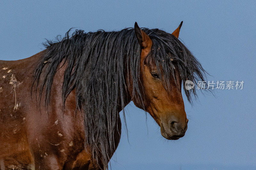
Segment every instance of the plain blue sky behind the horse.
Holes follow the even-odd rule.
[[[184,97],[186,135],[168,141],[148,114],[130,103],[111,167],[116,169],[256,169],[255,1],[1,1],[0,60],[29,57],[69,28],[85,32],[133,27],[172,33],[212,75],[210,81],[244,81],[243,90]],[[122,119],[123,121],[123,119]],[[123,123],[124,124],[124,123]]]

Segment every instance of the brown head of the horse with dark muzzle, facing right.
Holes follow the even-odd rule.
[[[172,33],[176,38],[179,36],[181,24]],[[161,46],[152,46],[155,41],[150,38],[150,33],[148,35],[146,31],[142,31],[137,23],[134,29],[141,46],[139,81],[143,102],[138,100],[133,102],[155,119],[161,127],[163,137],[171,140],[179,139],[185,135],[188,119],[181,95],[182,77],[178,63],[172,59],[170,50],[160,49],[163,48]],[[175,37],[173,39],[176,39]],[[164,52],[161,52],[162,50]],[[156,54],[167,56],[154,56]],[[165,68],[168,61],[164,62],[164,60],[170,60],[169,70]],[[168,82],[164,83],[166,80]]]

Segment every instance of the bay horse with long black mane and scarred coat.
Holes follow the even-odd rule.
[[[181,89],[204,69],[172,33],[70,30],[46,49],[0,61],[0,168],[108,169],[131,101],[169,140],[187,130]],[[182,84],[183,81],[183,84]],[[194,89],[185,90],[191,101]]]

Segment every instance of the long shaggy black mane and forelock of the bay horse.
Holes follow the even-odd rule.
[[[162,70],[161,78],[167,90],[170,90],[171,76],[175,78],[174,64],[180,70],[183,82],[187,79],[194,82],[204,80],[201,64],[177,38],[158,29],[142,30],[153,42],[146,57],[147,64],[153,63]],[[45,44],[46,54],[36,67],[34,84],[40,89],[40,100],[44,93],[47,106],[51,102],[54,75],[62,66],[61,62],[66,64],[63,102],[75,89],[76,107],[84,113],[85,146],[91,148],[98,163],[107,167],[115,152],[118,110],[127,103],[128,89],[132,89],[132,99],[136,98],[143,105],[143,93],[139,88],[141,48],[133,28],[118,32],[84,33],[76,30],[72,36],[69,36],[69,31],[57,42],[47,41]],[[42,82],[40,77],[43,77]],[[185,93],[189,101],[191,94],[196,95],[194,89],[185,90]]]

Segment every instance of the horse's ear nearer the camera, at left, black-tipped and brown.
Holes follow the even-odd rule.
[[[134,31],[141,48],[147,48],[152,45],[151,39],[144,31],[140,29],[137,22],[134,24]]]

